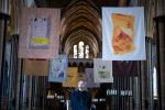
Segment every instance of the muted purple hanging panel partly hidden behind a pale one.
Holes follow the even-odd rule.
[[[88,88],[98,88],[100,87],[99,82],[94,81],[94,68],[85,68],[86,81]]]

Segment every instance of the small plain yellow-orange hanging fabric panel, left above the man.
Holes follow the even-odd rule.
[[[63,82],[63,87],[77,87],[78,85],[78,67],[68,67],[66,81]]]

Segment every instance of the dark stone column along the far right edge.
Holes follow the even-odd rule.
[[[156,16],[160,110],[165,110],[165,15]]]

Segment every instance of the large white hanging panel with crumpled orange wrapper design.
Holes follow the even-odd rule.
[[[146,59],[144,8],[102,8],[102,59]]]

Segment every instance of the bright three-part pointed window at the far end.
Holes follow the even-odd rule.
[[[82,41],[74,45],[74,58],[89,58],[89,45]]]

